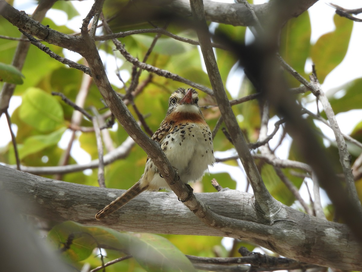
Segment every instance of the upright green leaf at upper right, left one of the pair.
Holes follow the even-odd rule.
[[[308,12],[292,18],[282,30],[280,54],[299,74],[306,77],[304,66],[310,54],[311,22]],[[291,86],[299,86],[294,77],[287,74]]]

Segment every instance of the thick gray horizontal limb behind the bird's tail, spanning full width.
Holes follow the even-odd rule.
[[[5,166],[0,166],[0,190],[16,202],[26,203],[20,205],[21,213],[56,222],[72,220],[121,231],[228,236],[307,263],[362,269],[361,248],[344,224],[321,220],[284,205],[274,215],[273,222],[268,223],[255,209],[253,195],[235,190],[200,193],[197,197],[216,214],[264,225],[266,230],[258,237],[236,235],[240,230],[226,233],[206,226],[174,193],[142,193],[108,219],[96,221],[94,214],[124,190],[51,180]]]

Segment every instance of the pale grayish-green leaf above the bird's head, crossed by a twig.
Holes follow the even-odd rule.
[[[153,42],[153,37],[147,35],[134,35],[133,38],[140,44],[149,48]],[[193,49],[194,46],[187,44],[185,42],[177,41],[173,38],[159,38],[156,42],[155,47],[153,48],[154,53],[163,54],[163,55],[176,55],[185,53]]]

